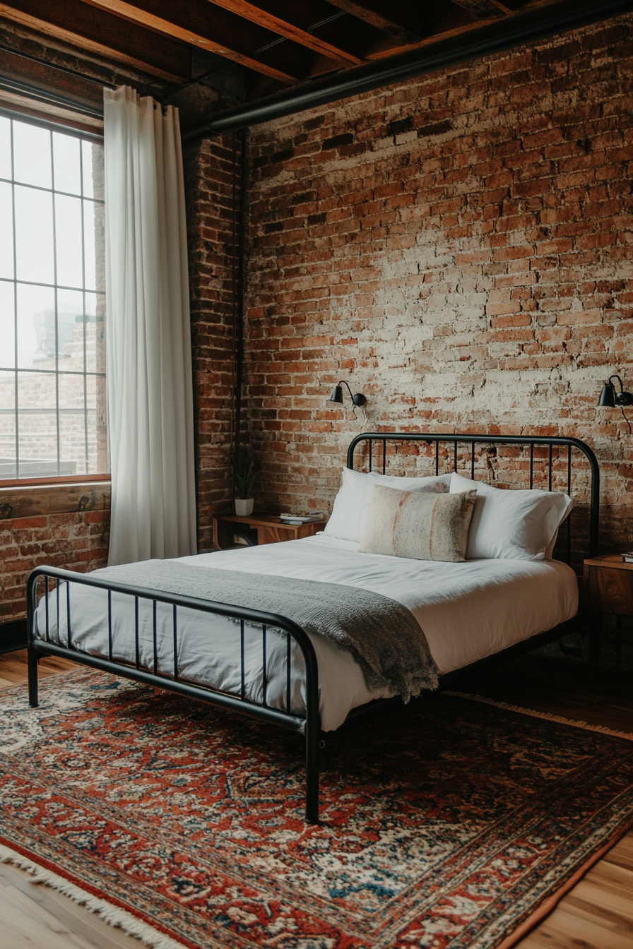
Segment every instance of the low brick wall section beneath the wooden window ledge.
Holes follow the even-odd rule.
[[[0,520],[0,623],[27,615],[28,574],[39,565],[105,567],[109,525],[107,510]]]

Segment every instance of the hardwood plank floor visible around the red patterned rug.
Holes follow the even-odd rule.
[[[73,663],[46,659],[40,675]],[[0,688],[27,680],[26,653],[0,656]],[[633,674],[606,671],[598,684],[585,663],[531,654],[455,686],[538,712],[633,734]],[[0,925],[9,949],[133,949],[140,940],[109,926],[27,873],[0,865]],[[516,949],[632,949],[633,831],[576,884]]]

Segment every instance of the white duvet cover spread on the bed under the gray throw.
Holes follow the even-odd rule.
[[[578,587],[573,571],[559,561],[472,560],[461,564],[409,560],[359,553],[357,544],[326,534],[238,550],[182,557],[183,564],[245,573],[268,573],[324,583],[358,586],[407,606],[418,620],[440,673],[471,662],[551,629],[575,615]],[[71,640],[75,648],[107,656],[107,594],[94,587],[71,585]],[[49,636],[66,643],[64,589],[50,595]],[[129,597],[112,596],[112,632],[116,658],[134,661],[134,611]],[[59,630],[58,634],[58,608]],[[158,605],[158,669],[174,670],[173,613]],[[131,622],[130,622],[131,621]],[[44,636],[44,599],[36,614]],[[241,689],[239,623],[178,608],[178,675],[239,695]],[[310,636],[319,662],[321,721],[325,731],[338,728],[348,712],[385,692],[370,692],[360,666],[331,640]],[[245,693],[264,698],[261,630],[245,630]],[[287,692],[287,639],[268,630],[266,700],[273,708],[304,714],[303,659],[292,644]],[[140,660],[153,663],[152,605],[140,600]]]

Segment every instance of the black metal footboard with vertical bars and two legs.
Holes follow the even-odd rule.
[[[38,584],[44,580],[45,585],[45,630],[44,638],[35,635],[35,614],[37,609]],[[53,589],[50,581],[55,581]],[[108,626],[108,657],[95,656],[77,648],[72,641],[71,621],[71,585],[91,586],[107,591],[107,626]],[[51,642],[50,639],[50,594],[55,593],[53,608],[56,609],[57,636],[62,642],[60,629],[60,599],[65,598],[66,615],[66,645]],[[114,658],[113,643],[113,605],[112,594],[121,593],[134,599],[134,652],[133,663]],[[143,667],[140,660],[140,609],[141,600],[152,603],[153,622],[153,662],[151,668]],[[158,670],[158,617],[157,604],[172,606],[173,651],[174,665],[171,675]],[[176,692],[188,698],[196,698],[212,705],[233,709],[242,715],[261,718],[289,731],[305,736],[306,740],[306,821],[316,824],[319,819],[319,741],[321,721],[319,714],[319,676],[318,664],[314,646],[304,629],[297,623],[277,613],[268,613],[249,609],[243,606],[233,606],[215,603],[210,600],[200,600],[196,597],[180,596],[163,593],[159,590],[143,586],[132,586],[114,581],[94,577],[91,574],[75,573],[55,567],[35,568],[28,578],[27,586],[28,608],[28,703],[32,708],[39,704],[37,661],[41,656],[71,655],[73,661],[101,669],[113,675],[122,675],[126,679],[135,679],[147,685]],[[194,682],[181,679],[178,674],[178,608],[197,610],[201,613],[213,613],[216,616],[227,617],[240,623],[240,661],[241,661],[241,689],[239,695],[220,692],[212,686],[198,685]],[[262,631],[262,702],[253,701],[246,695],[246,668],[245,668],[245,623],[251,627],[260,626]],[[267,631],[274,629],[286,634],[287,639],[287,680],[286,680],[286,708],[281,710],[272,708],[267,702],[268,666],[267,666]],[[290,704],[290,641],[296,642],[301,650],[306,668],[306,716],[297,716],[291,712]]]

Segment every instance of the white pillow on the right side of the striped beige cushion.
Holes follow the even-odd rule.
[[[454,474],[450,492],[476,489],[467,560],[545,560],[559,525],[575,504],[568,494],[512,491]],[[553,546],[552,546],[553,547]]]

